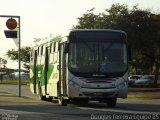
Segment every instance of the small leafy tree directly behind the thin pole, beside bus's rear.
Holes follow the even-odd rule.
[[[20,59],[23,62],[23,67],[29,70],[29,62],[30,62],[30,47],[23,47],[21,48]],[[8,50],[7,56],[14,61],[18,61],[18,51],[15,49]]]

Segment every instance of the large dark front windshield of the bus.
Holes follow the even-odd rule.
[[[120,42],[70,43],[69,70],[77,73],[122,73],[127,69],[127,48]]]

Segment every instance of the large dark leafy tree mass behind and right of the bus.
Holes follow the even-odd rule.
[[[78,18],[78,24],[74,28],[126,31],[134,58],[131,65],[147,74],[154,72],[157,77],[160,69],[159,21],[160,15],[153,14],[149,9],[141,10],[136,5],[129,10],[127,5],[113,4],[98,15],[94,14],[94,9],[88,10]]]

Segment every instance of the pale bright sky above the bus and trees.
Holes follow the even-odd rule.
[[[21,18],[21,46],[30,46],[35,38],[56,36],[70,30],[87,10],[103,12],[112,4],[139,5],[160,13],[160,0],[0,0],[0,15],[17,15]],[[5,38],[7,18],[0,17],[0,57],[8,49],[17,49],[13,39]],[[8,60],[8,67],[18,68],[18,63]]]

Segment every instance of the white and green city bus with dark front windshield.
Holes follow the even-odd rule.
[[[31,51],[30,88],[41,100],[105,102],[127,98],[128,52],[120,30],[72,30],[39,41]]]

